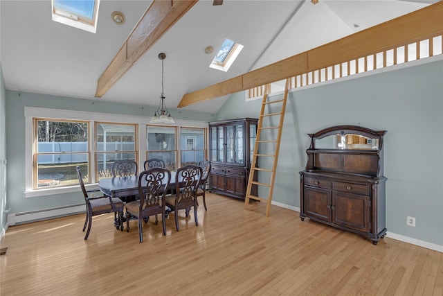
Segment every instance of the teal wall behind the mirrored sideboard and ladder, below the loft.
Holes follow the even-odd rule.
[[[243,93],[235,94],[217,120],[257,118],[260,107],[260,100],[246,103]],[[388,131],[388,232],[443,245],[443,61],[291,92],[273,202],[300,207],[298,172],[307,161],[307,134],[343,124]],[[416,227],[406,225],[407,216],[417,219]]]

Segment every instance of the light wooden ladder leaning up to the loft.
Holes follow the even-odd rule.
[[[244,209],[248,209],[249,200],[259,200],[260,202],[266,202],[266,217],[269,217],[270,211],[271,211],[271,202],[272,202],[272,193],[273,193],[273,187],[274,187],[274,180],[275,180],[275,171],[277,168],[277,162],[278,162],[278,150],[280,150],[280,139],[282,137],[282,128],[283,128],[283,119],[284,119],[284,110],[286,108],[286,101],[288,96],[288,90],[290,87],[291,79],[288,78],[286,80],[286,87],[284,89],[284,97],[282,99],[278,99],[275,101],[268,101],[268,93],[269,93],[269,85],[266,85],[264,95],[263,95],[263,101],[262,101],[262,110],[260,112],[260,118],[258,120],[257,125],[257,138],[255,141],[255,147],[253,152],[253,158],[252,158],[252,164],[251,164],[251,171],[249,172],[249,180],[248,180],[248,186],[246,188],[246,198],[244,200]],[[266,113],[266,106],[271,109],[270,104],[276,104],[281,103],[281,109],[280,112],[271,112]],[[276,118],[280,116],[279,124],[275,126],[271,126],[271,119]],[[264,127],[263,121],[264,119],[269,119],[269,126]],[[278,130],[277,135],[275,136],[275,130]],[[262,140],[262,132],[266,132],[268,137]],[[274,134],[274,135],[273,135]],[[273,150],[270,153],[266,154],[260,154],[259,146],[260,145],[267,145],[268,150]],[[273,149],[269,149],[269,146],[273,146]],[[257,166],[257,157],[266,157],[269,159],[273,159],[272,168],[259,168]],[[267,172],[267,173],[264,173]],[[259,174],[260,173],[260,174]],[[258,180],[258,176],[260,175],[260,180],[268,180],[269,183],[264,182],[257,182],[254,179]],[[270,177],[269,177],[270,175]],[[252,195],[251,191],[253,189],[253,185],[263,186],[268,188],[268,196],[267,198],[260,198],[259,196]],[[257,190],[257,194],[258,194]]]

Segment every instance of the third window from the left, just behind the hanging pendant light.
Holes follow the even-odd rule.
[[[166,168],[177,170],[177,128],[157,125],[147,125],[146,159],[159,158],[165,162]]]

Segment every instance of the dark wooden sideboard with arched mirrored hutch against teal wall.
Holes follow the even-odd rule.
[[[310,218],[370,238],[386,235],[383,136],[355,125],[315,134],[300,172],[300,218]]]

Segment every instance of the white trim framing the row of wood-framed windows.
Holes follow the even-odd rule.
[[[54,116],[57,114],[57,116]],[[138,159],[143,164],[146,153],[146,125],[150,124],[150,117],[145,116],[130,116],[122,114],[96,113],[96,112],[82,112],[73,110],[57,110],[39,107],[24,107],[25,116],[25,197],[34,198],[45,195],[54,195],[62,193],[71,193],[80,191],[79,186],[64,186],[51,189],[33,189],[33,118],[48,118],[48,119],[64,119],[64,120],[82,120],[91,122],[91,139],[89,139],[90,151],[94,151],[95,130],[93,124],[96,121],[116,123],[135,123],[138,124]],[[152,124],[150,124],[152,125]],[[208,123],[204,121],[188,121],[176,120],[176,123],[171,126],[190,127],[190,128],[208,128]],[[95,154],[91,153],[91,164],[95,163]],[[142,161],[143,160],[143,161]],[[91,175],[95,175],[94,166],[91,166]],[[87,190],[98,189],[98,184],[86,184]]]

